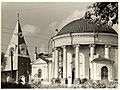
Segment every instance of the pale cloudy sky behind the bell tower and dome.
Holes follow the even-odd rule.
[[[48,41],[69,22],[84,16],[93,2],[2,2],[1,5],[1,51],[6,52],[12,37],[17,13],[33,60],[34,48],[48,51]],[[115,27],[116,28],[116,27]]]

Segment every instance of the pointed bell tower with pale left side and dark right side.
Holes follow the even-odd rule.
[[[25,82],[28,82],[31,74],[31,60],[28,53],[28,46],[26,45],[20,26],[19,17],[8,45],[6,57],[7,65],[1,72],[1,81],[10,82],[9,78],[11,78],[13,82],[18,83],[19,79],[24,77]]]

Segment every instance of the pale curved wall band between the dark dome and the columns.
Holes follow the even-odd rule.
[[[72,34],[73,44],[92,44],[94,42],[93,33],[75,33]],[[69,34],[56,36],[53,38],[55,47],[62,45],[71,45],[71,37]],[[115,34],[99,33],[98,39],[95,39],[97,44],[118,44],[118,38]]]

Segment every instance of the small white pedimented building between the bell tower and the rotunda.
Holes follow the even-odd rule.
[[[36,55],[35,55],[36,56]],[[36,57],[35,57],[36,58]],[[31,79],[36,82],[50,82],[51,81],[51,64],[52,58],[42,55],[37,57],[32,63]]]

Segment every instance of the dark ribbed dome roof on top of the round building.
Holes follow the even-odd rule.
[[[97,24],[90,23],[88,19],[78,19],[65,25],[58,33],[58,35],[69,34],[69,33],[92,33],[98,31],[99,33],[111,33],[117,34],[117,32],[107,26],[98,26]]]

